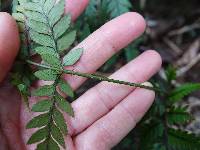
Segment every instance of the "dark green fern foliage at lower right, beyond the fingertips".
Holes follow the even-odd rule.
[[[186,106],[178,102],[191,92],[199,90],[199,84],[183,84],[174,87],[176,70],[166,69],[166,78],[159,86],[165,93],[157,93],[153,107],[133,131],[131,138],[136,150],[198,150],[200,138],[184,130],[184,125],[194,118]],[[174,101],[173,101],[174,100]]]

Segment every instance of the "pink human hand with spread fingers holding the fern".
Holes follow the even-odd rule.
[[[88,0],[68,0],[67,10],[75,19]],[[6,13],[0,13],[0,145],[2,150],[33,150],[26,146],[33,130],[25,124],[32,118],[21,102],[19,93],[6,81],[19,49],[16,23]],[[126,13],[106,23],[78,45],[84,54],[73,69],[92,73],[121,48],[140,36],[145,30],[144,19],[137,13]],[[161,66],[155,51],[146,51],[111,77],[143,83]],[[8,76],[8,74],[7,74]],[[3,81],[4,78],[4,81]],[[65,79],[77,89],[84,78],[66,75]],[[65,138],[69,150],[108,150],[131,131],[154,100],[154,92],[102,82],[88,90],[72,103],[75,118],[66,117],[69,136]],[[30,98],[31,105],[36,99]]]

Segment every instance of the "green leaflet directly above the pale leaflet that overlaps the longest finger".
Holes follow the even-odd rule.
[[[66,33],[60,39],[58,39],[57,41],[58,51],[62,52],[68,49],[74,43],[75,38],[76,38],[76,31],[71,31],[69,33]]]

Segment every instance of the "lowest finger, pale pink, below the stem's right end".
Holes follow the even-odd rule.
[[[111,149],[135,127],[154,97],[153,91],[136,89],[110,113],[76,137],[77,149]]]

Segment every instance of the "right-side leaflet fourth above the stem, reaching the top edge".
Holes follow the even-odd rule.
[[[60,0],[50,11],[49,13],[49,22],[51,26],[54,26],[55,23],[62,17],[64,14],[65,0]]]

